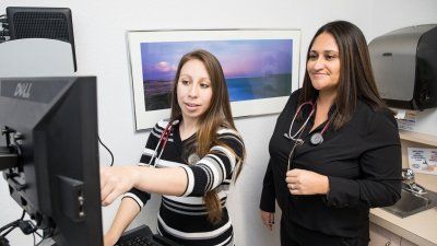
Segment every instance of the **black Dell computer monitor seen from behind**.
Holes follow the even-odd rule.
[[[102,246],[96,78],[0,79],[0,128],[10,196],[57,246]]]

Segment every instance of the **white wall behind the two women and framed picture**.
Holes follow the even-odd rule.
[[[1,0],[0,12],[8,5],[68,7],[73,13],[78,73],[98,77],[99,133],[113,150],[117,165],[139,160],[149,132],[134,131],[131,84],[129,80],[126,31],[162,28],[299,28],[300,63],[314,33],[333,20],[347,20],[358,25],[368,42],[395,28],[437,23],[435,0]],[[0,68],[1,69],[1,68]],[[300,68],[300,74],[304,67]],[[418,131],[437,136],[435,110],[420,115]],[[267,232],[259,220],[258,201],[263,173],[269,159],[268,140],[276,115],[237,119],[247,144],[246,167],[229,198],[238,246],[274,246],[279,226]],[[109,162],[101,149],[102,164]],[[17,219],[20,209],[9,199],[7,185],[0,180],[0,226]],[[105,231],[116,207],[103,210]],[[150,202],[141,222],[154,227],[157,201]],[[279,218],[276,219],[279,222]],[[14,232],[12,246],[33,245],[32,236]]]

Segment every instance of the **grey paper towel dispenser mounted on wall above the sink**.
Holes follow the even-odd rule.
[[[437,107],[437,24],[397,30],[368,47],[379,93],[390,107]]]

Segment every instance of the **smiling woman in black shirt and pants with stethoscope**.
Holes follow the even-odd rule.
[[[369,208],[400,198],[397,122],[354,24],[320,27],[306,66],[270,140],[261,219],[271,230],[276,199],[282,246],[368,245]]]

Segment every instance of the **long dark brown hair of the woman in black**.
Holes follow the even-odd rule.
[[[351,120],[358,98],[366,102],[375,110],[386,108],[380,98],[366,38],[363,32],[354,24],[346,21],[330,22],[321,26],[314,36],[307,51],[307,62],[315,39],[322,33],[331,34],[339,46],[340,81],[336,87],[334,101],[335,112],[331,117],[334,129],[341,128]],[[299,95],[299,104],[315,101],[319,92],[312,86],[308,70],[305,71],[303,93]]]

